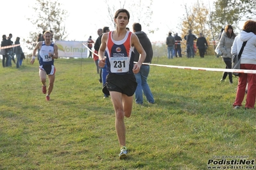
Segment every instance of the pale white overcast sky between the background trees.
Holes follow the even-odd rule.
[[[110,20],[108,18],[107,5],[103,3],[105,0],[93,0],[93,1],[82,1],[82,0],[72,0],[72,1],[61,1],[64,5],[64,9],[69,12],[69,17],[67,17],[65,26],[66,31],[69,34],[68,40],[78,40],[85,41],[91,35],[93,39],[98,37],[97,29],[99,27],[108,26]],[[124,1],[124,0],[121,0]],[[197,0],[179,0],[179,1],[165,1],[165,0],[153,0],[153,23],[151,28],[158,28],[154,34],[148,34],[146,30],[142,31],[148,34],[151,41],[163,41],[166,40],[167,33],[173,31],[174,33],[181,33],[176,27],[185,13],[182,8],[184,4],[193,4]],[[208,5],[213,1],[210,0],[200,0]],[[116,0],[109,0],[108,3],[111,4],[117,2]],[[36,31],[35,26],[32,26],[31,22],[27,19],[36,15],[31,6],[33,6],[35,0],[12,0],[12,1],[1,1],[0,6],[0,16],[1,16],[1,35],[9,35],[12,33],[13,39],[20,36],[21,39],[28,38],[30,31]],[[142,4],[148,3],[148,0],[142,0]],[[127,4],[127,3],[126,3]],[[117,4],[118,6],[118,4]],[[131,6],[124,6],[127,10]],[[137,20],[130,19],[128,26],[131,28],[133,22],[138,22]],[[4,24],[3,24],[4,23]]]

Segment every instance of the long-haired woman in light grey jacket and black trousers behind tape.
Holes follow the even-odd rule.
[[[236,35],[234,33],[233,27],[231,25],[226,25],[225,30],[221,35],[221,40],[219,40],[219,50],[221,50],[221,53],[222,53],[221,57],[225,62],[226,68],[228,69],[232,68],[231,47],[233,45],[235,36]],[[223,72],[221,82],[225,81],[227,75],[228,75],[230,84],[232,84],[233,83],[232,72]]]

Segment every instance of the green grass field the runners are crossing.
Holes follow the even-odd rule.
[[[160,65],[225,68],[221,58],[153,58]],[[222,72],[151,66],[151,105],[126,118],[119,160],[110,98],[92,59],[57,59],[51,101],[38,63],[0,68],[0,169],[207,169],[214,156],[256,157],[255,110],[234,110],[237,79]]]

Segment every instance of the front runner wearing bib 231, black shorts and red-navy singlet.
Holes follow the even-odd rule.
[[[117,10],[114,15],[115,31],[102,36],[99,49],[99,66],[104,67],[107,64],[108,76],[103,92],[110,94],[115,110],[115,130],[121,147],[119,158],[126,158],[128,154],[124,116],[129,118],[132,114],[133,94],[137,87],[134,73],[139,72],[146,58],[146,52],[138,37],[125,29],[129,19],[130,13],[127,10]],[[141,56],[135,65],[132,58],[134,47]]]

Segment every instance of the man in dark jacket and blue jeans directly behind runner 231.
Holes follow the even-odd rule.
[[[153,98],[153,95],[151,93],[151,90],[147,82],[148,74],[149,74],[149,65],[146,64],[146,63],[148,64],[151,63],[151,60],[153,58],[152,45],[146,33],[141,31],[141,24],[135,22],[132,27],[133,27],[133,33],[137,35],[143,49],[146,52],[146,59],[144,60],[145,64],[141,65],[141,70],[139,71],[139,73],[135,73],[135,78],[137,81],[137,88],[135,91],[135,102],[136,104],[143,104],[142,92],[144,92],[144,95],[146,96],[148,102],[150,104],[153,104],[155,100]],[[136,49],[134,49],[134,52],[132,53],[132,55],[134,55],[135,62],[139,61],[139,52],[137,52]]]

